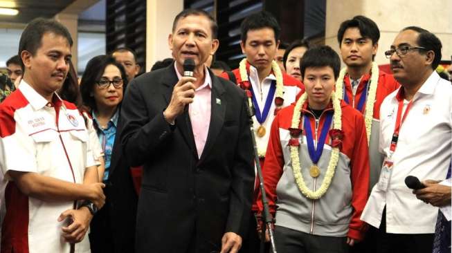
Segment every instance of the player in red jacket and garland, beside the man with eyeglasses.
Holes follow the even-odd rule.
[[[380,106],[384,98],[400,86],[392,75],[380,71],[373,62],[379,38],[377,24],[363,16],[343,21],[337,33],[342,60],[347,67],[339,74],[336,93],[364,115],[370,158],[368,194],[377,183],[383,165],[383,155],[378,151]]]

